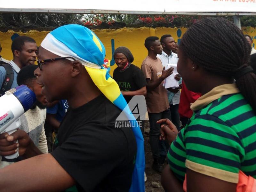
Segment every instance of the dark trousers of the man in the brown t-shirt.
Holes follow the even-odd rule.
[[[148,120],[150,124],[149,143],[154,159],[159,159],[160,155],[165,156],[170,147],[168,142],[159,140],[160,124],[156,123],[158,120],[165,118],[171,120],[170,109],[161,113],[148,113]]]

